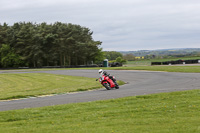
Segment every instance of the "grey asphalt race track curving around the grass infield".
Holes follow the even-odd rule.
[[[93,91],[66,93],[62,95],[0,101],[0,111],[107,100],[152,93],[200,89],[200,74],[198,73],[128,70],[108,70],[107,72],[114,75],[117,80],[125,81],[127,84],[120,86],[120,89],[114,90],[101,88]],[[2,72],[0,72],[0,74],[1,73]],[[98,70],[55,70],[31,73],[51,73],[92,78],[98,77]]]

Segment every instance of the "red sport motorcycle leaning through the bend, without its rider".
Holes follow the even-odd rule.
[[[98,79],[96,79],[97,81]],[[102,75],[102,77],[99,78],[99,82],[107,89],[110,90],[111,88],[119,89],[119,85],[117,84],[117,81],[114,76],[110,75]]]

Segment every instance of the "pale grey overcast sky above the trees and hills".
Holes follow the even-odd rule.
[[[0,23],[72,23],[105,51],[200,48],[200,0],[0,0]]]

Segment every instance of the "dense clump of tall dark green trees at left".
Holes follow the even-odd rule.
[[[103,60],[102,42],[71,23],[0,24],[0,67],[87,65]]]

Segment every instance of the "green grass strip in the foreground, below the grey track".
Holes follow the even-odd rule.
[[[200,90],[0,112],[2,133],[199,133]]]

